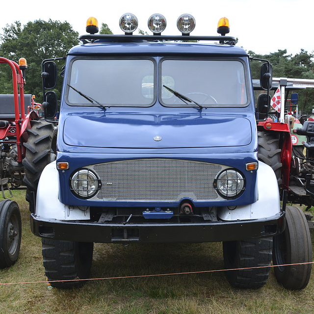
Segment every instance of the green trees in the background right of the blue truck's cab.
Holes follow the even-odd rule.
[[[256,54],[248,52],[250,57],[267,59],[273,66],[273,77],[275,78],[309,78],[314,79],[314,54],[304,49],[294,56],[288,54],[287,50],[278,50],[269,54]],[[252,61],[252,78],[260,78],[261,62]],[[299,94],[299,110],[302,113],[311,113],[314,107],[314,89],[295,90]]]

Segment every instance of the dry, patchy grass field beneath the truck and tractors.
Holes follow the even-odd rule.
[[[41,240],[29,227],[25,192],[15,192],[23,235],[18,261],[0,270],[0,313],[62,314],[313,314],[314,276],[307,288],[282,288],[271,269],[260,289],[231,288],[223,272],[89,281],[82,288],[51,288],[45,281]],[[314,244],[314,230],[311,230]],[[91,278],[223,269],[222,244],[95,244]]]

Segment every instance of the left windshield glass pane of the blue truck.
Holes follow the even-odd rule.
[[[156,95],[154,80],[149,59],[77,59],[71,66],[67,103],[92,106],[92,99],[104,106],[149,106]]]

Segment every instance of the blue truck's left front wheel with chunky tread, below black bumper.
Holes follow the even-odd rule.
[[[42,254],[48,282],[56,288],[81,287],[89,278],[94,243],[42,238]],[[62,281],[64,280],[64,281]],[[66,281],[73,280],[73,281]],[[57,281],[57,282],[53,282]]]

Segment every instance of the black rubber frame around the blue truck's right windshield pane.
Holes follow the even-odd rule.
[[[164,61],[167,61],[167,60],[191,60],[191,61],[207,61],[207,60],[210,60],[210,61],[226,61],[226,62],[229,62],[229,61],[239,61],[242,63],[243,65],[243,72],[244,72],[244,82],[245,82],[245,91],[246,91],[246,103],[244,104],[224,104],[224,105],[221,105],[221,104],[200,104],[202,105],[202,107],[231,107],[231,108],[237,108],[237,107],[247,107],[248,105],[250,105],[251,103],[251,94],[250,94],[250,80],[249,80],[249,72],[248,72],[248,67],[247,67],[247,64],[245,63],[245,61],[240,58],[240,57],[184,57],[184,56],[181,56],[181,57],[169,57],[169,56],[166,56],[166,57],[163,57],[159,60],[158,62],[158,100],[159,100],[159,103],[164,106],[164,107],[196,107],[196,108],[199,108],[198,105],[194,104],[194,103],[191,103],[191,104],[165,104],[162,100],[162,88],[163,88],[163,83],[162,83],[162,77],[163,77],[163,74],[162,74],[162,64]],[[195,99],[193,99],[193,95],[187,95],[185,93],[184,90],[179,90],[179,89],[176,89],[174,88],[178,93],[182,94],[183,96],[185,97],[188,97],[189,99],[191,99],[192,101],[197,101]],[[197,91],[196,91],[197,92]],[[173,96],[175,97],[175,95]]]

